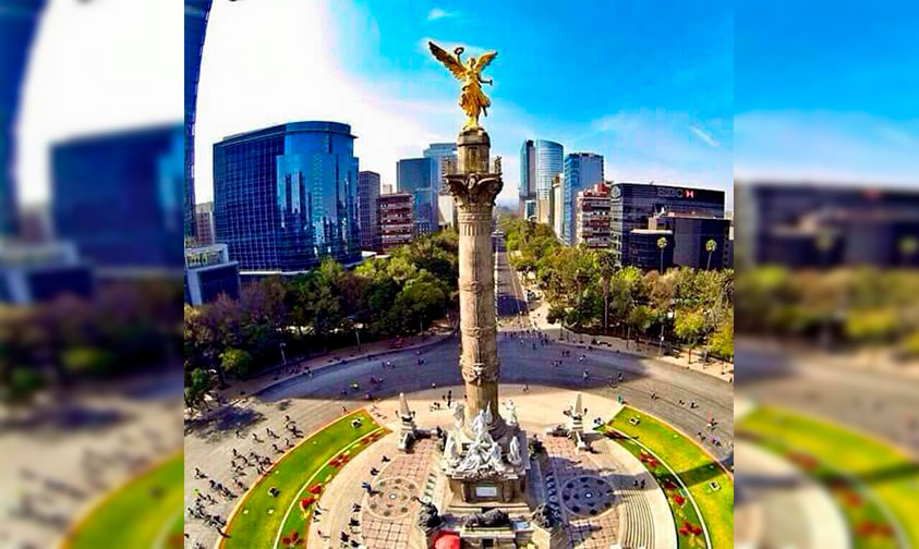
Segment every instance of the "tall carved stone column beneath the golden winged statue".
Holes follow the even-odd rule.
[[[457,139],[459,169],[447,175],[459,220],[459,292],[462,351],[460,370],[465,383],[467,431],[479,412],[491,406],[489,431],[505,431],[498,411],[498,347],[495,312],[495,259],[492,212],[501,190],[500,173],[489,173],[488,134],[469,130]]]

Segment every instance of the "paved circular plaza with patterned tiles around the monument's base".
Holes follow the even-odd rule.
[[[428,390],[409,395],[421,427],[446,428],[452,422],[448,410],[432,407],[443,402],[443,390]],[[587,453],[576,451],[567,438],[544,434],[565,418],[556,404],[572,399],[572,392],[544,387],[524,392],[522,386],[503,386],[503,398],[513,400],[521,426],[544,443],[549,468],[540,488],[565,513],[571,547],[606,549],[615,542],[649,549],[676,547],[676,528],[664,493],[637,459],[603,438],[594,440],[595,453]],[[591,395],[585,395],[584,404],[589,413],[593,408],[607,418],[618,411],[616,403]],[[396,399],[376,406],[376,417],[392,430],[398,429],[397,407]],[[344,532],[368,548],[409,547],[409,530],[420,507],[413,498],[439,503],[443,493],[435,474],[438,457],[431,439],[416,442],[411,453],[399,453],[396,437],[387,436],[329,484],[311,538],[322,536],[325,546],[337,547]],[[372,468],[378,473],[372,475]],[[374,493],[361,488],[364,481]]]

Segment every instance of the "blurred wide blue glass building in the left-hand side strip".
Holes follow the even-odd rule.
[[[114,269],[182,266],[180,127],[78,137],[51,150],[55,233],[81,259]]]

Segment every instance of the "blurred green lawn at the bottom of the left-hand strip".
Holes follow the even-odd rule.
[[[183,483],[183,461],[179,453],[106,498],[77,526],[64,547],[182,547]]]

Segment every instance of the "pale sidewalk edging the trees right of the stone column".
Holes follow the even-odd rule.
[[[521,283],[524,288],[530,288],[533,291],[537,290],[536,288],[533,288],[532,284],[527,284],[522,280]],[[546,320],[546,317],[548,316],[548,303],[546,303],[545,301],[539,300],[535,306],[530,305],[528,306],[528,308],[530,310],[530,321],[534,329],[542,331],[560,329],[559,325],[549,324]],[[570,341],[568,338],[570,338]],[[584,342],[580,343],[582,339]],[[680,352],[679,356],[658,356],[658,346],[656,344],[648,345],[645,342],[637,343],[632,341],[629,342],[627,345],[626,340],[621,338],[616,338],[614,335],[592,335],[589,333],[581,334],[578,332],[572,332],[571,330],[566,330],[565,340],[559,341],[559,343],[583,347],[584,345],[590,345],[591,340],[596,340],[598,343],[601,343],[601,346],[598,346],[600,349],[607,349],[614,352],[629,353],[636,356],[654,358],[661,362],[673,364],[674,366],[678,366],[680,368],[688,368],[696,371],[700,371],[702,374],[706,374],[712,377],[716,377],[722,381],[734,381],[734,365],[730,363],[722,363],[721,361],[714,359],[708,365],[703,365],[701,349],[696,349],[693,351],[692,363],[689,363],[689,353]],[[597,347],[597,345],[593,346]],[[673,352],[673,347],[670,349],[670,351]]]

